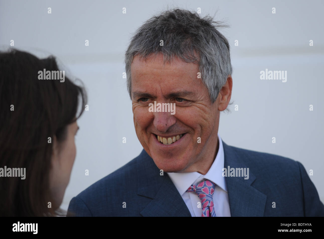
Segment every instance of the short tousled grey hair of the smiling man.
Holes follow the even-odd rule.
[[[201,18],[189,10],[173,9],[147,20],[134,33],[125,52],[127,88],[131,96],[131,64],[135,55],[146,60],[151,54],[163,54],[170,63],[177,56],[184,62],[199,64],[203,84],[208,88],[211,102],[232,74],[227,39],[216,29],[228,27],[212,17]],[[164,45],[160,46],[160,40]],[[198,53],[198,54],[196,54]]]

